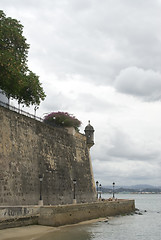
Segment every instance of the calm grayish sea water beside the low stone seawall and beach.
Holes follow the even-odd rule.
[[[110,195],[103,195],[109,198]],[[112,217],[108,222],[73,225],[37,240],[161,240],[161,194],[118,194],[135,199],[141,214]]]

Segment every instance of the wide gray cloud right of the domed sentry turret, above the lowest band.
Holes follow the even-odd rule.
[[[134,136],[130,136],[119,129],[113,128],[108,137],[103,135],[100,139],[102,142],[98,143],[93,150],[94,159],[115,163],[125,161],[147,163],[156,162],[160,159],[159,149],[152,149],[149,141],[135,139]]]

